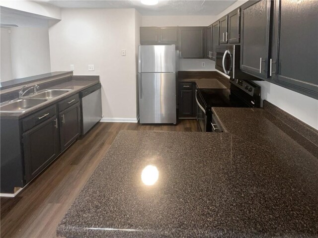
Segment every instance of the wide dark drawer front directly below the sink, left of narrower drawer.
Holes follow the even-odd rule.
[[[49,119],[56,115],[56,106],[52,105],[46,109],[43,109],[35,114],[32,114],[29,117],[26,117],[25,119],[22,119],[22,127],[23,132],[27,131],[28,129],[31,129],[35,125],[43,122],[46,119]]]

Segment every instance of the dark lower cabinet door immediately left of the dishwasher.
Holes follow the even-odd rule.
[[[64,151],[78,137],[80,133],[79,103],[65,109],[60,114],[61,151]]]

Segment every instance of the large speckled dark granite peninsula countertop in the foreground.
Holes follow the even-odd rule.
[[[226,132],[121,131],[57,235],[317,237],[318,160],[282,143],[278,152]],[[141,180],[147,165],[159,170],[153,186]]]

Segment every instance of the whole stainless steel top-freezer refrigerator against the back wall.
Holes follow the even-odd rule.
[[[176,123],[175,46],[139,46],[139,121]]]

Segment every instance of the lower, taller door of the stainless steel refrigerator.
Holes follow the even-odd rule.
[[[139,73],[140,123],[176,123],[175,73]]]

